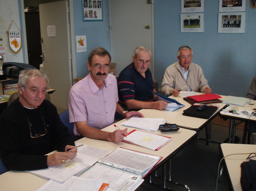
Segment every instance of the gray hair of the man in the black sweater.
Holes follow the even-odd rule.
[[[24,89],[26,85],[28,84],[28,81],[32,77],[38,77],[38,78],[44,78],[46,79],[47,87],[49,84],[49,79],[46,74],[43,73],[43,71],[40,71],[38,69],[25,69],[21,70],[19,73],[19,86],[21,88],[21,91],[24,92]]]

